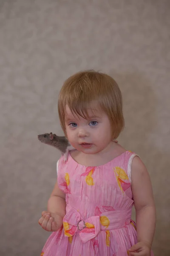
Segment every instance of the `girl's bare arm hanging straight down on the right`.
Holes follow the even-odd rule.
[[[138,243],[151,247],[156,227],[156,208],[153,199],[150,176],[139,157],[134,157],[131,169],[133,200],[136,209]],[[137,244],[136,244],[137,245]],[[137,251],[137,247],[133,246]],[[135,249],[135,250],[134,250]],[[139,249],[140,251],[141,249]],[[136,255],[136,254],[130,254]],[[141,254],[141,255],[147,255]],[[149,254],[148,254],[149,255]]]

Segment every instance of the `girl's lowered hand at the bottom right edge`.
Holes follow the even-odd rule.
[[[147,241],[141,241],[129,249],[129,256],[150,256],[151,246]]]

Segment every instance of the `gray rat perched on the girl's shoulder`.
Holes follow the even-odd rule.
[[[55,148],[59,149],[61,154],[65,156],[65,161],[68,159],[68,151],[75,149],[65,136],[57,136],[52,132],[50,134],[39,134],[38,140],[40,140],[42,143],[54,146]]]

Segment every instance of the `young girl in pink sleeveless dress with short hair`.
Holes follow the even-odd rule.
[[[60,91],[58,111],[76,149],[57,162],[48,211],[39,219],[53,231],[41,256],[153,256],[150,177],[142,160],[116,141],[124,127],[118,85],[104,73],[76,73]]]

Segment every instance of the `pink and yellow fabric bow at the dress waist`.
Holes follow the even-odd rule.
[[[100,217],[92,216],[83,220],[79,212],[75,208],[71,208],[63,218],[63,227],[65,236],[71,237],[79,232],[80,239],[86,243],[99,233]]]

